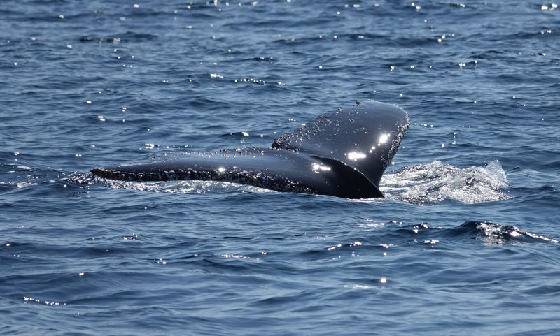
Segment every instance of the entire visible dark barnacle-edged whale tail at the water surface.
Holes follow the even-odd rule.
[[[94,168],[125,181],[214,180],[343,198],[383,197],[379,181],[409,126],[405,110],[365,101],[321,115],[269,148],[190,153],[172,159]]]

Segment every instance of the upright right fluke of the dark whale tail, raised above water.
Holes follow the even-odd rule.
[[[408,126],[402,108],[367,101],[321,115],[294,133],[279,136],[272,147],[341,161],[379,187]]]

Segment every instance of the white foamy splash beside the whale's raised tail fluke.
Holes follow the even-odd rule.
[[[500,161],[485,167],[457,168],[441,161],[407,166],[388,173],[381,179],[381,192],[386,198],[405,203],[437,203],[458,200],[482,203],[509,198],[502,190],[507,177]]]

